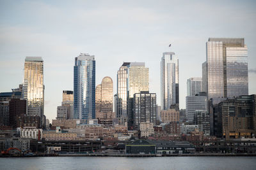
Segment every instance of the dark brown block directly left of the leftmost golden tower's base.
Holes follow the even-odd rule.
[[[9,102],[10,126],[17,128],[16,117],[25,116],[27,111],[26,99],[11,99]]]

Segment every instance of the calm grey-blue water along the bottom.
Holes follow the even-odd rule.
[[[256,169],[256,157],[0,158],[0,169]]]

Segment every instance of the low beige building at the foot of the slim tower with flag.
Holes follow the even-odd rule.
[[[179,110],[168,109],[161,110],[161,120],[164,124],[168,124],[169,122],[179,122],[180,113]]]

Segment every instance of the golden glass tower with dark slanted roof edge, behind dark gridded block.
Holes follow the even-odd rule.
[[[141,91],[148,91],[148,67],[145,67],[144,62],[124,62],[117,72],[116,115],[122,124],[131,121],[132,97]]]

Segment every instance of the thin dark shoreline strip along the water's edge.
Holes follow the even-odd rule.
[[[44,155],[0,155],[0,158],[12,157],[255,157],[256,153],[181,153],[181,154],[80,154],[80,153],[61,153]]]

